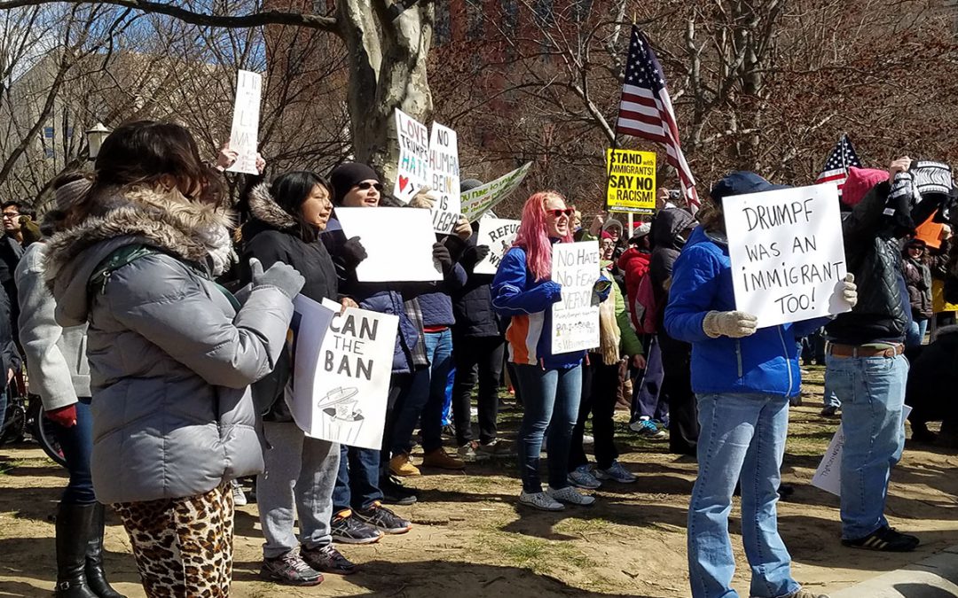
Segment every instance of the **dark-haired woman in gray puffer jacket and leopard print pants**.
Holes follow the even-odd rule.
[[[276,364],[303,277],[254,262],[244,301],[217,285],[229,215],[179,125],[121,125],[95,174],[46,262],[57,322],[89,323],[94,490],[149,597],[228,596],[229,481],[262,471],[248,386]]]

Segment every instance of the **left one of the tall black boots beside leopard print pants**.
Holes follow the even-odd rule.
[[[60,502],[57,511],[56,598],[98,598],[86,584],[86,547],[93,504]]]

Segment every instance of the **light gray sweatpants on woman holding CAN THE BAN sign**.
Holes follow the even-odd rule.
[[[332,542],[332,488],[339,471],[339,445],[308,438],[292,423],[263,422],[265,472],[256,480],[262,555],[279,557],[299,543],[293,533],[299,516],[300,539],[308,548]],[[293,511],[295,503],[295,514]]]

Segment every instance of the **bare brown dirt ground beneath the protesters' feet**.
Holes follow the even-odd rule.
[[[837,420],[818,415],[821,368],[809,369],[805,406],[791,413],[783,466],[795,494],[779,505],[795,578],[820,591],[839,589],[958,543],[958,476],[953,475],[958,453],[909,442],[892,475],[887,514],[892,525],[920,536],[922,545],[909,554],[841,547],[837,498],[810,486]],[[517,417],[514,409],[502,413],[506,437],[514,434]],[[639,476],[638,483],[608,484],[597,492],[595,506],[550,514],[516,508],[514,460],[469,466],[465,475],[426,471],[407,482],[422,490],[421,501],[395,509],[414,522],[413,530],[370,546],[341,546],[363,570],[350,577],[328,575],[319,587],[259,580],[256,505],[240,507],[233,595],[688,596],[685,520],[696,463],[665,454],[661,442],[635,437],[621,419],[622,461]],[[35,445],[0,448],[0,597],[50,594],[56,576],[52,516],[65,478]],[[736,587],[747,596],[738,517],[735,509]],[[106,548],[114,586],[131,598],[143,596],[115,518]]]

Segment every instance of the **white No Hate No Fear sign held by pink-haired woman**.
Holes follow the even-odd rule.
[[[552,304],[552,352],[571,353],[599,346],[599,243],[557,243],[552,246],[552,279],[562,299]]]

